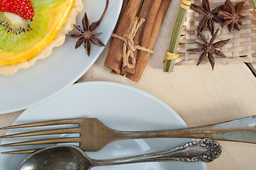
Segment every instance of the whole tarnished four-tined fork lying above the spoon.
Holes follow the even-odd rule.
[[[153,137],[183,137],[183,138],[210,138],[213,140],[226,140],[235,142],[256,143],[256,115],[230,120],[228,122],[213,125],[204,125],[193,128],[182,128],[177,130],[150,130],[150,131],[120,131],[113,130],[103,125],[96,118],[79,118],[68,120],[51,120],[38,123],[27,123],[22,125],[11,125],[0,128],[0,130],[14,128],[32,128],[48,125],[78,124],[79,128],[62,128],[54,130],[40,130],[33,132],[23,132],[12,135],[4,135],[1,138],[29,137],[38,135],[56,135],[79,133],[79,137],[64,137],[57,139],[33,140],[25,142],[15,142],[0,145],[1,147],[13,147],[23,145],[45,145],[55,143],[79,142],[79,148],[83,151],[99,151],[109,142],[116,140],[141,139]],[[32,153],[38,149],[18,150],[12,152],[2,152],[2,154]]]

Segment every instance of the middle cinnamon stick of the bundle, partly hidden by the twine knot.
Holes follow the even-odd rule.
[[[143,2],[143,7],[140,10],[140,14],[139,14],[139,18],[144,18],[145,21],[148,20],[148,16],[149,16],[149,11],[150,8],[152,8],[152,3],[154,0],[146,0]],[[135,45],[140,45],[140,41],[141,38],[143,37],[143,31],[145,28],[145,23],[143,23],[140,28],[138,29],[138,32],[136,33],[135,37],[133,38],[133,42]],[[135,50],[135,52],[133,52],[133,55],[135,57],[135,59],[137,59],[137,55],[138,55],[138,50]],[[122,72],[123,74],[134,74],[135,73],[135,67],[133,68],[128,68],[127,66],[122,67]]]

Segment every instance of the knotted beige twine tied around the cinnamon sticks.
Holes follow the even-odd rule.
[[[123,54],[122,54],[123,67],[127,66],[130,69],[135,67],[136,60],[133,55],[133,52],[135,52],[135,50],[143,50],[145,52],[150,52],[150,53],[155,52],[154,50],[151,50],[147,47],[141,47],[140,45],[134,45],[133,38],[135,37],[138,29],[144,22],[145,22],[145,19],[141,18],[139,20],[138,17],[135,17],[133,19],[132,23],[130,23],[130,26],[128,28],[128,33],[126,33],[123,36],[117,35],[115,33],[112,34],[113,38],[118,38],[119,40],[123,41]],[[131,59],[131,63],[129,62],[129,58]]]

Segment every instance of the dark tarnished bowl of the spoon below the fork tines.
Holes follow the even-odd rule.
[[[21,162],[19,170],[89,169],[90,158],[74,146],[48,147],[30,154]]]

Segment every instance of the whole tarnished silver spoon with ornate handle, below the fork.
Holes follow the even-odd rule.
[[[221,155],[218,142],[203,139],[179,147],[118,159],[91,159],[78,147],[56,146],[30,154],[21,162],[19,170],[89,170],[94,166],[111,166],[139,162],[212,162]]]

